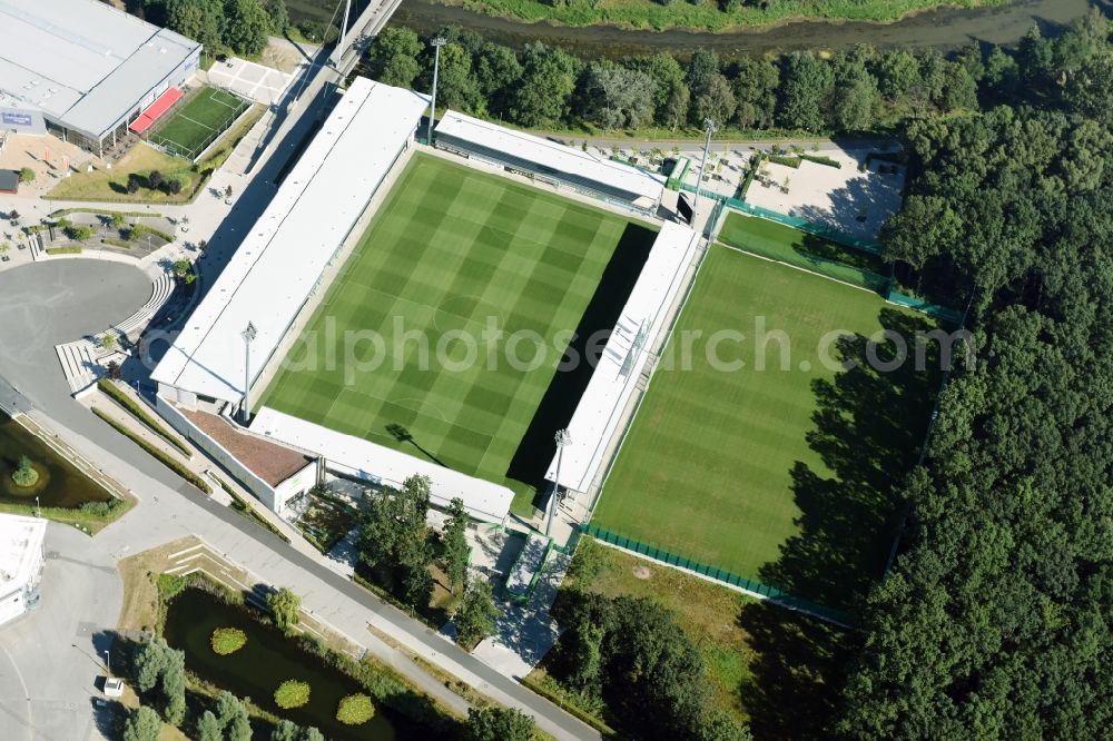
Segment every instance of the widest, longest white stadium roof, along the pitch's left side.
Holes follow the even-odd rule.
[[[426,106],[420,93],[355,79],[155,368],[156,382],[243,399],[240,333],[248,323],[258,333],[254,383]]]

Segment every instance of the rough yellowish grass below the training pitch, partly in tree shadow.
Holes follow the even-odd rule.
[[[577,557],[598,565],[590,579],[569,577],[561,589],[649,597],[671,609],[703,658],[716,707],[749,722],[756,738],[825,738],[849,633],[590,537]],[[530,678],[552,686],[549,665]]]

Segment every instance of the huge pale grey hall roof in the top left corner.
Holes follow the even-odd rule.
[[[97,0],[0,0],[0,92],[96,138],[199,49]]]

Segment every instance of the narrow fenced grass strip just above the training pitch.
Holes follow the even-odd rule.
[[[884,294],[888,288],[889,266],[879,256],[768,219],[728,211],[719,240],[869,290]]]

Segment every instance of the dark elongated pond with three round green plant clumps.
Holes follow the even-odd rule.
[[[209,645],[209,636],[217,628],[243,630],[247,644],[227,656],[217,655]],[[197,676],[237,696],[249,696],[279,718],[298,725],[315,725],[333,741],[393,741],[426,735],[381,703],[375,704],[375,717],[366,723],[341,723],[336,707],[348,694],[365,693],[358,682],[303,651],[277,628],[258,622],[245,609],[225,604],[203,590],[187,589],[174,599],[162,634],[167,643],[186,652],[186,669]],[[282,710],[273,694],[288,679],[309,683],[309,702]]]

